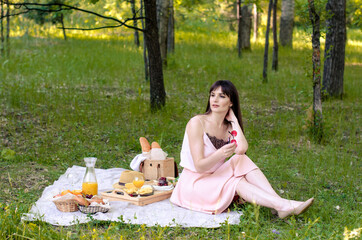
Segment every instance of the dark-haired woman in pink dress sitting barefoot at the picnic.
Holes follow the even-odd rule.
[[[218,214],[227,209],[238,194],[246,202],[275,209],[280,218],[304,212],[313,198],[306,202],[281,198],[245,155],[248,142],[243,133],[235,86],[220,80],[211,86],[209,93],[206,113],[187,123],[180,162],[184,169],[171,202]]]

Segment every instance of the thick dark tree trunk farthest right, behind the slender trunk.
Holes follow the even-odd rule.
[[[346,47],[346,0],[328,0],[327,34],[324,52],[323,94],[343,96],[344,58]]]

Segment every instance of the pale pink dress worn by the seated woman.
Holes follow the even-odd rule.
[[[204,156],[217,149],[204,133]],[[188,135],[185,132],[180,165],[184,168],[173,190],[170,201],[190,210],[219,214],[234,199],[236,186],[248,172],[258,167],[246,155],[234,155],[228,161],[220,159],[210,170],[198,173],[191,156]]]

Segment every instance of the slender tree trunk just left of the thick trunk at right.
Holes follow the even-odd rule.
[[[320,20],[314,7],[314,0],[309,2],[309,19],[313,25],[313,127],[312,133],[318,142],[323,137],[322,127],[322,96],[321,96],[321,62],[320,62]]]

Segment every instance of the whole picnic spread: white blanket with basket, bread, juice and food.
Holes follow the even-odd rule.
[[[168,158],[158,143],[152,143],[151,147],[145,138],[140,138],[140,143],[142,155],[137,155],[131,163],[133,169],[139,165],[136,169],[140,171],[98,169],[96,158],[85,158],[86,168],[68,168],[53,185],[44,189],[22,220],[41,220],[59,226],[95,219],[146,226],[206,228],[240,222],[240,212],[210,215],[173,205],[169,201],[177,184],[173,158]],[[154,153],[152,148],[156,149]]]

